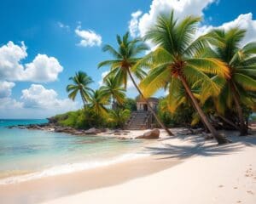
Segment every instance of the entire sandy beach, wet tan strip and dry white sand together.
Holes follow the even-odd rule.
[[[181,129],[173,132],[182,133]],[[136,137],[143,131],[125,135]],[[200,135],[148,144],[148,156],[84,172],[0,185],[1,203],[256,203],[256,137],[232,144]],[[121,136],[122,137],[122,136]]]

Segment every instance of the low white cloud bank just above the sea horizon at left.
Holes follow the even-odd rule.
[[[30,88],[23,89],[19,100],[9,96],[7,94],[5,98],[0,98],[0,116],[47,117],[79,108],[77,102],[58,99],[55,90],[44,88],[40,84],[32,84]]]

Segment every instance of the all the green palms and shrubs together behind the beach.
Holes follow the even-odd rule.
[[[117,47],[105,45],[112,59],[101,88],[90,88],[92,80],[79,71],[67,86],[70,99],[79,94],[84,109],[55,116],[61,125],[72,127],[125,127],[135,102],[125,99],[131,79],[142,99],[159,89],[168,93],[160,99],[158,113],[148,105],[159,125],[205,127],[218,144],[229,142],[216,128],[233,128],[247,134],[248,116],[256,109],[256,42],[241,44],[246,31],[234,27],[213,30],[195,38],[201,18],[177,20],[174,13],[160,14],[144,39],[117,36]],[[145,54],[151,42],[156,47]],[[138,84],[137,84],[138,82]],[[111,107],[110,107],[111,106]]]

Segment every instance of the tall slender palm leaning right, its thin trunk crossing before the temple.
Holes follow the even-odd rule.
[[[124,37],[117,35],[117,42],[119,46],[118,49],[114,49],[111,45],[105,45],[103,47],[103,51],[108,51],[108,53],[113,55],[114,59],[102,61],[98,67],[100,68],[104,65],[109,65],[111,70],[108,76],[114,76],[118,82],[124,84],[125,88],[127,87],[128,77],[130,77],[131,82],[137,88],[138,93],[148,103],[148,100],[143,96],[143,93],[138,88],[135,78],[132,76],[132,74],[134,74],[138,79],[141,80],[146,75],[143,68],[137,67],[136,69],[133,69],[132,67],[133,65],[136,65],[139,59],[141,59],[137,57],[137,55],[141,54],[143,51],[146,51],[148,47],[138,38],[130,40],[129,32],[126,32]],[[152,112],[160,126],[165,128],[169,135],[172,135],[172,132],[166,128],[162,122],[160,122],[159,117],[155,114],[149,103],[148,109]]]

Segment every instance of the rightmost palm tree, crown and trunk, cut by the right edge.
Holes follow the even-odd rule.
[[[247,126],[241,105],[253,107],[250,91],[256,91],[256,42],[249,42],[241,47],[241,40],[246,31],[238,27],[229,31],[214,30],[211,32],[214,48],[210,51],[213,57],[226,62],[230,70],[230,78],[224,82],[220,96],[215,100],[218,111],[224,114],[226,107],[235,104],[238,113],[240,133],[247,134]],[[219,79],[216,79],[219,80]]]

